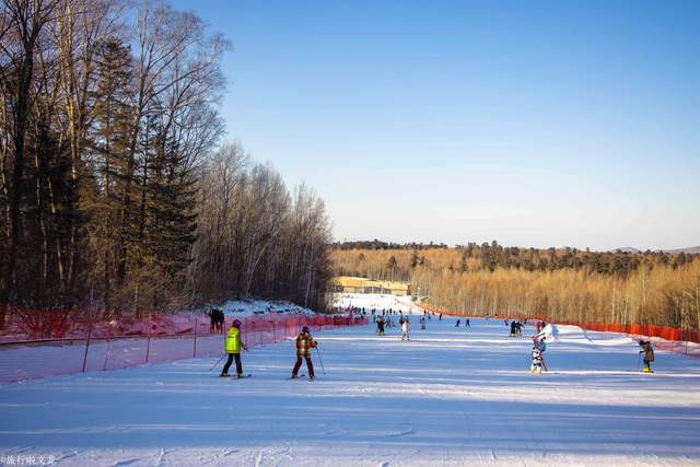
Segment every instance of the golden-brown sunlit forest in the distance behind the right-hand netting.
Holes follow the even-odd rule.
[[[476,315],[660,324],[700,330],[700,256],[474,243],[455,248],[346,249],[339,276],[409,281],[427,303]]]

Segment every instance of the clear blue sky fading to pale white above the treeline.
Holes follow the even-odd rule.
[[[700,1],[206,1],[228,139],[336,240],[700,245]]]

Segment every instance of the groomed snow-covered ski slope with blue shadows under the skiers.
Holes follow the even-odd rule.
[[[74,466],[700,465],[700,360],[561,327],[530,375],[502,320],[411,319],[322,332],[323,374],[288,380],[292,342],[243,355],[0,385],[0,456]],[[532,334],[527,326],[524,335]],[[51,362],[47,361],[47,365]],[[302,372],[305,372],[302,366]]]

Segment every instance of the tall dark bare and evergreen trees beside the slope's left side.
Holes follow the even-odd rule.
[[[221,143],[228,48],[158,1],[0,3],[0,312],[324,306],[323,201]]]

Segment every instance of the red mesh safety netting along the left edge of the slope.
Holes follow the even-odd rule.
[[[15,382],[89,371],[116,370],[144,363],[217,357],[224,332],[215,332],[203,313],[153,314],[144,319],[119,319],[92,325],[65,319],[55,312],[8,313],[0,331],[0,382]],[[45,316],[40,316],[46,313]],[[27,320],[27,316],[30,319]],[[366,325],[353,316],[266,314],[226,316],[243,323],[249,348],[295,337],[303,326],[312,331]],[[56,337],[56,331],[63,337]],[[35,332],[40,332],[38,336]],[[43,337],[43,338],[42,338]]]

